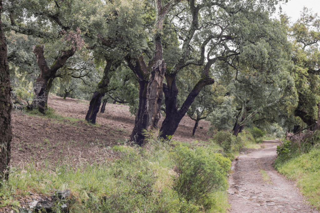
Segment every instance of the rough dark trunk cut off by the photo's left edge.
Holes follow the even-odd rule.
[[[7,62],[6,39],[1,21],[2,1],[0,1],[0,180],[8,180],[11,159],[11,87]],[[1,187],[2,184],[0,184]]]

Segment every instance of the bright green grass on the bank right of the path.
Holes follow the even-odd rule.
[[[297,181],[310,204],[320,209],[320,149],[313,148],[288,161],[276,161],[276,168],[288,179]]]

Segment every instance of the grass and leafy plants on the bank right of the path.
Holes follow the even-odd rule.
[[[284,141],[277,147],[275,168],[295,180],[310,204],[320,209],[320,131],[302,141]]]

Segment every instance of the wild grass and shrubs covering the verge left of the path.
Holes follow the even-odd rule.
[[[77,121],[50,108],[46,115],[36,110],[25,115],[70,125]],[[238,137],[218,131],[209,141],[169,143],[158,140],[158,133],[145,135],[143,147],[118,140],[104,147],[112,155],[96,162],[74,164],[74,156],[61,155],[55,164],[49,156],[40,165],[33,157],[23,167],[13,164],[10,181],[1,181],[0,208],[24,212],[31,194],[45,198],[68,189],[71,196],[56,201],[55,212],[64,202],[68,212],[226,212],[230,160],[246,147],[260,148],[250,131]]]

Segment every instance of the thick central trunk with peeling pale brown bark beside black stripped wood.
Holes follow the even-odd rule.
[[[152,67],[148,80],[139,80],[139,108],[130,135],[130,140],[139,146],[144,142],[143,130],[155,129],[158,125],[165,69],[164,60],[158,60]]]

